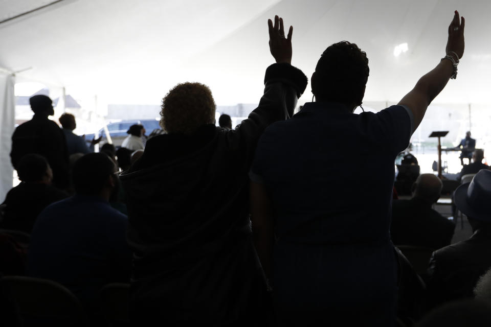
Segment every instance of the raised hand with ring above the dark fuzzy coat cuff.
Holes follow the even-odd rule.
[[[285,38],[283,28],[283,18],[275,16],[275,25],[271,19],[267,20],[267,27],[270,32],[270,51],[276,62],[292,63],[292,34],[293,26],[290,26],[288,35]]]

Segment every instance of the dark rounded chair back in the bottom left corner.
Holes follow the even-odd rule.
[[[20,316],[28,321],[41,319],[63,322],[66,326],[87,326],[79,299],[61,284],[25,276],[4,276],[0,283],[17,305]]]

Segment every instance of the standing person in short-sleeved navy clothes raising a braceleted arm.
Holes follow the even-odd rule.
[[[330,45],[310,79],[316,101],[261,136],[250,174],[251,220],[280,325],[395,324],[394,161],[455,76],[463,26],[455,12],[448,57],[398,105],[377,113],[353,113],[365,94],[366,53],[347,41]],[[353,190],[363,196],[353,199]]]

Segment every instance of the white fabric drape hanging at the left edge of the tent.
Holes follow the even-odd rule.
[[[12,134],[15,125],[15,77],[0,73],[0,203],[12,188],[13,167],[10,162]]]

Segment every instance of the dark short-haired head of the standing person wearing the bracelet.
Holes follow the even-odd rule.
[[[334,43],[317,62],[312,93],[328,101],[361,104],[369,72],[367,54],[356,44]]]

